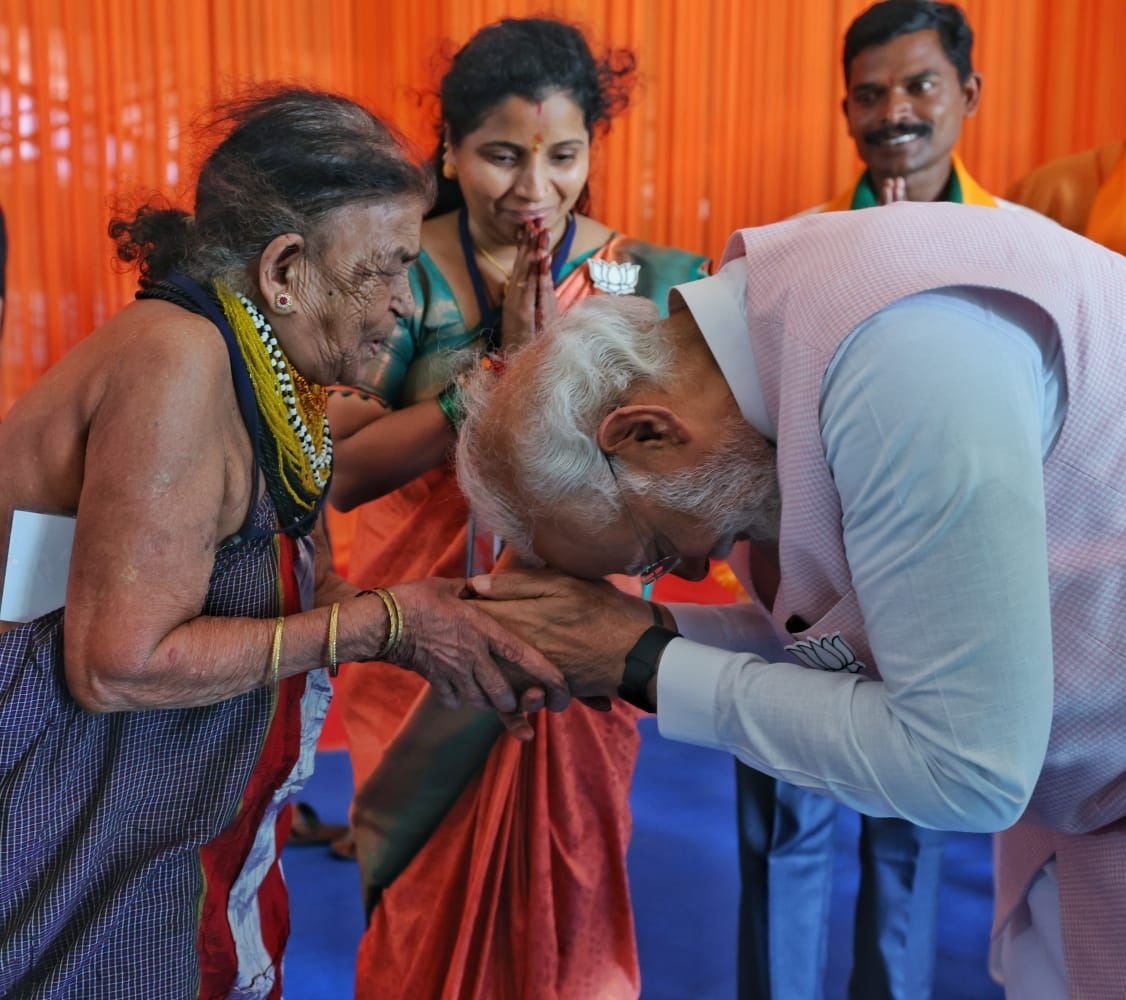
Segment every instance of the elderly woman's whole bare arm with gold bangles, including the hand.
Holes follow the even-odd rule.
[[[143,350],[98,360],[113,374],[86,438],[64,639],[68,684],[90,711],[213,704],[328,662],[330,607],[283,622],[200,615],[214,553],[245,516],[252,462],[225,350],[198,332],[146,331]],[[348,591],[321,572],[319,600],[331,605]],[[403,634],[392,659],[445,702],[516,708],[521,682],[497,658],[543,686],[551,707],[566,704],[558,671],[461,600],[459,582],[395,593]],[[338,661],[384,658],[390,630],[378,596],[340,600]]]

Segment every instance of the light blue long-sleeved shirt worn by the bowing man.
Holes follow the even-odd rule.
[[[733,264],[715,285],[730,301],[685,297],[744,417],[771,436],[745,265]],[[1051,320],[1004,293],[928,292],[854,330],[826,370],[820,426],[882,680],[796,666],[757,606],[678,605],[686,639],[661,660],[662,734],[874,815],[1016,821],[1051,727],[1043,461],[1064,386]]]

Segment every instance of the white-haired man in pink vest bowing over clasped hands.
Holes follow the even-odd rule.
[[[1007,995],[1117,1000],[1126,262],[1033,213],[904,203],[744,230],[677,293],[665,321],[593,301],[467,390],[474,509],[583,578],[473,592],[577,697],[866,814],[1003,831]],[[696,579],[733,532],[751,604],[599,581]]]

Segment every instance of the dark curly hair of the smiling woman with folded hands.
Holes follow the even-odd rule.
[[[458,145],[510,97],[543,100],[556,91],[574,100],[593,136],[629,104],[636,65],[624,48],[596,60],[579,28],[553,18],[504,18],[482,28],[454,54],[438,88],[441,127],[431,162],[438,199],[430,214],[465,204],[457,181],[441,175],[444,142]],[[580,212],[588,200],[583,188]]]

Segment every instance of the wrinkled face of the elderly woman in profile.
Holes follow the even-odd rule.
[[[355,382],[363,367],[414,309],[408,276],[419,256],[419,198],[361,202],[322,223],[304,280],[295,289],[304,329],[301,354],[316,372],[298,370],[321,384]],[[287,346],[289,356],[296,351]]]

